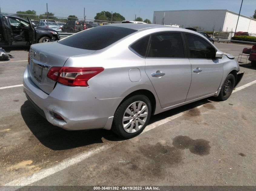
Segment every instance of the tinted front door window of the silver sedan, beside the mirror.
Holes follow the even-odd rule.
[[[189,48],[189,58],[214,59],[215,49],[204,39],[186,34]]]

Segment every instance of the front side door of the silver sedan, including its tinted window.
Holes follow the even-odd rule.
[[[221,59],[214,59],[216,50],[203,37],[185,34],[192,80],[186,101],[218,91],[222,76]]]

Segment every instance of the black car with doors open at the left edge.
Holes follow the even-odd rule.
[[[0,14],[0,47],[26,46],[35,43],[60,40],[58,32],[52,29],[37,27],[31,20]]]

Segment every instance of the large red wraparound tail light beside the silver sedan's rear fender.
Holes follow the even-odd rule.
[[[102,67],[52,67],[47,77],[68,86],[88,86],[87,81],[102,72]]]

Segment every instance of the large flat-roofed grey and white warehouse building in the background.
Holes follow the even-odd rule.
[[[201,30],[235,31],[238,13],[227,9],[154,11],[153,24],[201,27]],[[240,14],[236,31],[256,33],[256,19]]]

